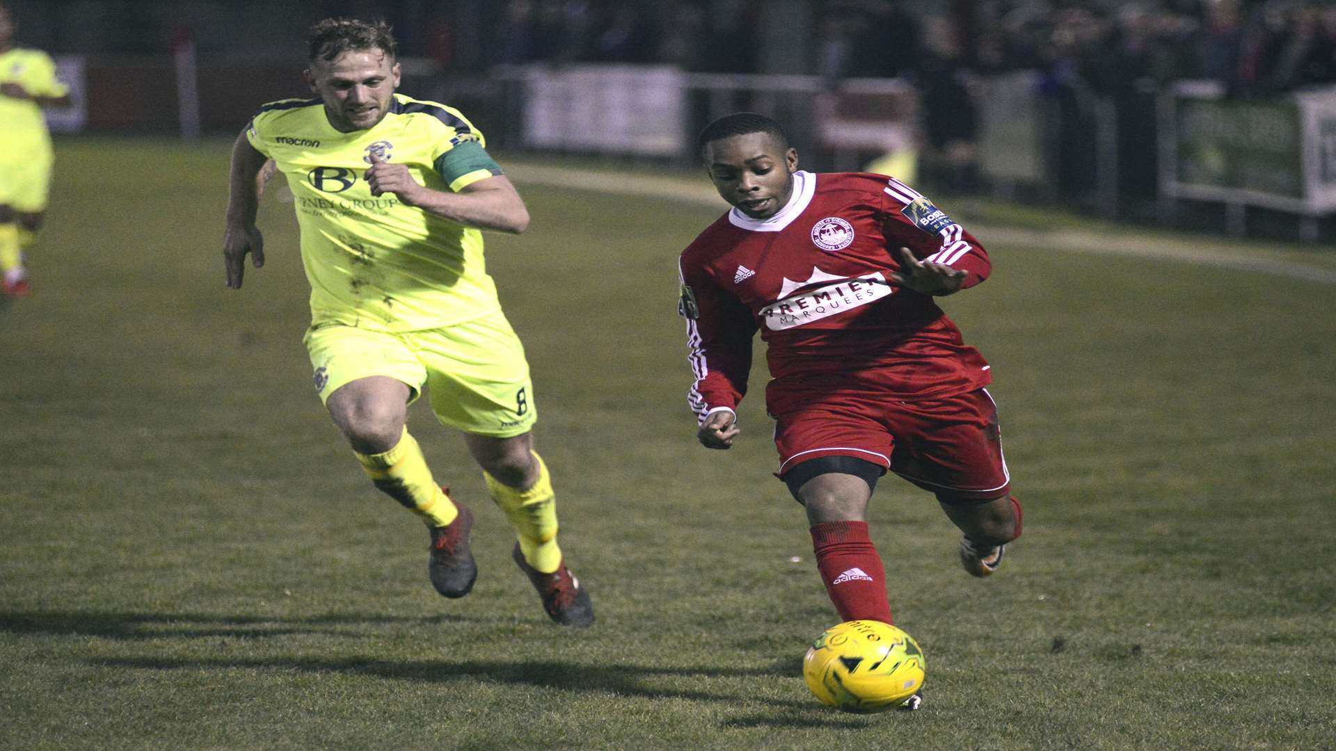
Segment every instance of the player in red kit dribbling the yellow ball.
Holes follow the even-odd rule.
[[[807,509],[840,617],[892,623],[866,522],[887,469],[937,496],[963,535],[967,572],[993,573],[1021,535],[1021,505],[989,363],[934,299],[987,278],[983,246],[894,178],[800,171],[763,115],[720,118],[699,146],[733,207],[680,261],[700,442],[727,449],[737,437],[760,330],[776,476]]]

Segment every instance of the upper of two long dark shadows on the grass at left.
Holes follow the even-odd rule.
[[[329,613],[306,617],[227,616],[215,613],[144,612],[0,612],[0,633],[45,633],[53,636],[100,636],[142,640],[170,636],[285,636],[323,633],[351,636],[349,625],[466,623],[457,615],[386,616],[371,613]]]

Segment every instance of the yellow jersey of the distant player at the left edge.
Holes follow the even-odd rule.
[[[36,96],[64,96],[69,87],[56,78],[56,64],[40,49],[0,52],[0,84],[16,83]],[[0,94],[0,143],[15,159],[51,159],[51,135],[41,107],[31,99]]]

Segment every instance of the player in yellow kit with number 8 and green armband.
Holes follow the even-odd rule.
[[[468,595],[477,565],[472,512],[437,484],[406,430],[424,385],[514,527],[516,564],[548,616],[589,625],[593,607],[557,547],[552,482],[533,450],[524,347],[482,257],[481,230],[518,234],[528,210],[464,115],[394,92],[399,65],[386,24],[321,21],[309,61],[318,96],[263,106],[234,146],[227,285],[242,286],[247,254],[263,265],[255,215],[273,164],[301,227],[315,389],[375,486],[426,522],[436,589]]]

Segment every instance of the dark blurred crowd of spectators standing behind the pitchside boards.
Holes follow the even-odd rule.
[[[993,75],[1037,76],[1055,191],[1094,192],[1092,134],[1112,118],[1117,190],[1132,199],[1156,190],[1146,144],[1156,138],[1157,92],[1170,82],[1216,82],[1233,98],[1336,84],[1329,1],[510,0],[505,13],[500,61],[667,63],[735,73],[776,72],[763,69],[760,44],[774,44],[782,15],[794,55],[804,57],[802,72],[832,87],[851,78],[910,82],[922,155],[962,192],[977,187],[977,94]]]

